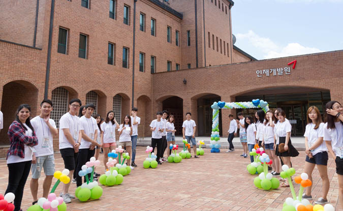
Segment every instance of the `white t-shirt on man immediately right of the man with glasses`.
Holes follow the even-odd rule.
[[[86,118],[86,116],[80,117],[80,130],[83,130],[84,133],[90,138],[94,139],[95,131],[97,130],[97,120],[93,117]],[[99,134],[98,134],[99,135]],[[89,149],[91,146],[90,142],[87,142],[85,139],[81,138],[81,145],[79,149]]]

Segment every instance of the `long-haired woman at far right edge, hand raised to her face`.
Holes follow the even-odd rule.
[[[343,122],[340,119],[343,107],[338,101],[326,103],[326,123],[324,125],[324,140],[326,147],[336,163],[338,177],[338,198],[343,210]]]

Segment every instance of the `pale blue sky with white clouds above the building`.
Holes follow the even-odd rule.
[[[233,0],[234,44],[257,59],[343,50],[343,0]]]

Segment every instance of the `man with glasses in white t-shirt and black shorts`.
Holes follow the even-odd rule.
[[[69,170],[69,178],[73,178],[75,163],[81,145],[80,119],[76,116],[81,106],[80,99],[72,99],[69,102],[69,112],[59,120],[59,152],[65,162],[65,168]],[[62,192],[64,202],[70,203],[75,196],[69,194],[68,184],[63,184]]]

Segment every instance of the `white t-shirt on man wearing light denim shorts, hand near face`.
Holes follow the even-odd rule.
[[[53,155],[53,137],[52,133],[45,123],[44,119],[40,116],[33,118],[31,121],[31,125],[34,127],[36,136],[38,138],[38,145],[34,148],[36,150],[35,156],[46,156],[46,155]],[[53,119],[49,119],[50,125],[56,129],[56,124]]]

